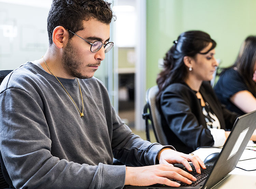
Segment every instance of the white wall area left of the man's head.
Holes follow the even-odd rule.
[[[42,57],[48,47],[48,11],[47,1],[43,7],[0,2],[1,70]]]

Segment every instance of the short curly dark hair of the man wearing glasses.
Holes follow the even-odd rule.
[[[104,0],[53,0],[47,18],[49,45],[53,44],[52,34],[57,26],[63,26],[77,32],[83,30],[83,20],[94,18],[102,23],[110,24],[113,15],[111,3]],[[69,39],[74,34],[69,33]]]

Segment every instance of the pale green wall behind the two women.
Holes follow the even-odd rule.
[[[156,84],[158,60],[180,33],[202,30],[217,42],[216,59],[231,65],[242,41],[256,35],[256,0],[147,0],[146,87]]]

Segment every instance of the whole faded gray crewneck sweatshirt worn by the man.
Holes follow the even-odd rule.
[[[76,79],[58,78],[82,111]],[[31,62],[0,85],[0,151],[15,188],[122,188],[125,166],[155,164],[163,148],[122,123],[96,78],[79,79],[84,117],[53,75]]]

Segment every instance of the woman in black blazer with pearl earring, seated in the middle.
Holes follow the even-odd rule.
[[[218,66],[216,42],[205,32],[187,31],[173,43],[157,78],[157,105],[168,142],[184,153],[223,146],[238,114],[221,105],[209,82]]]

